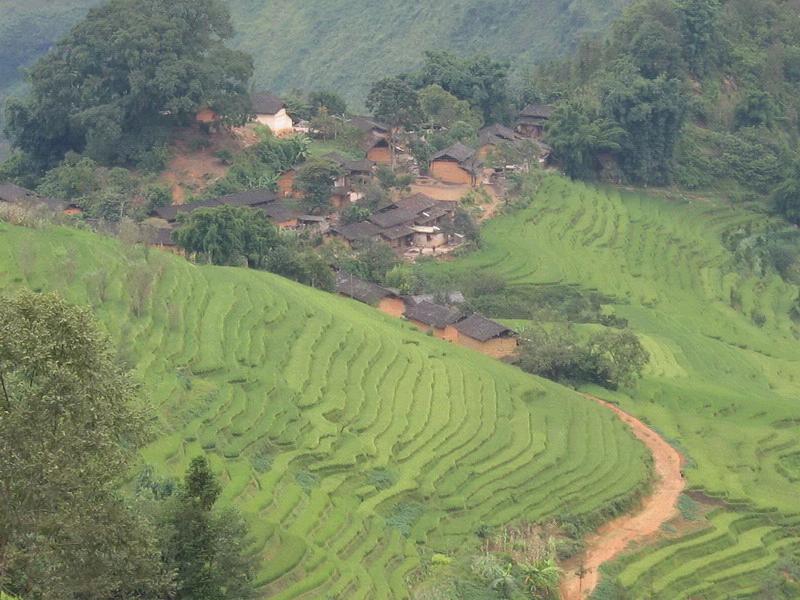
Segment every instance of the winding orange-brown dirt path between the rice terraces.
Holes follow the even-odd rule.
[[[633,542],[646,542],[648,538],[658,534],[661,525],[677,514],[678,497],[686,485],[681,474],[682,457],[675,448],[619,407],[596,396],[584,396],[617,413],[633,434],[648,447],[653,455],[656,480],[652,493],[635,513],[617,517],[603,525],[586,539],[584,553],[564,566],[564,579],[561,583],[563,600],[588,598],[600,581],[600,565],[616,558]]]

